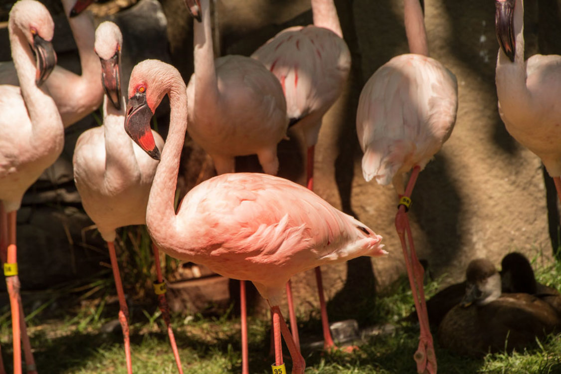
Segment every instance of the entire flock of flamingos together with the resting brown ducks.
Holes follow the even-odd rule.
[[[94,34],[91,19],[82,13],[93,0],[61,1],[79,50],[81,75],[56,65],[54,22],[35,0],[13,5],[8,21],[12,62],[0,63],[0,257],[10,295],[14,372],[22,372],[21,345],[26,372],[37,372],[19,294],[16,211],[27,188],[61,154],[65,127],[102,105],[103,126],[82,133],[72,164],[84,210],[107,242],[127,372],[132,373],[128,309],[113,242],[116,229],[145,224],[157,261],[155,290],[178,372],[182,364],[169,324],[160,250],[241,280],[242,374],[249,373],[246,280],[271,308],[273,368],[286,372],[284,339],[292,373],[304,373],[295,313],[289,308],[289,330],[279,308],[285,292],[293,306],[291,277],[315,269],[324,349],[337,349],[319,266],[387,255],[379,234],[312,192],[321,122],[351,69],[333,0],[311,0],[313,25],[280,31],[250,57],[219,58],[213,54],[209,0],[185,0],[194,17],[191,79],[186,84],[175,67],[149,59],[134,67],[125,92],[119,62],[126,46],[122,50],[119,27],[103,22]],[[561,198],[561,57],[536,55],[525,61],[523,1],[495,4],[500,117],[508,132],[540,157]],[[395,225],[420,326],[414,358],[417,372],[435,374],[430,324],[439,325],[441,343],[458,353],[504,348],[513,329],[518,335],[511,335],[509,348],[519,348],[561,326],[561,297],[538,287],[527,260],[513,254],[505,257],[500,273],[488,260],[472,261],[465,283],[443,291],[443,301],[425,301],[424,269],[407,211],[419,173],[452,133],[458,85],[448,68],[429,57],[422,2],[403,0],[403,6],[410,53],[393,57],[366,82],[356,132],[364,178],[392,183],[399,198]],[[171,108],[165,144],[150,128],[164,96]],[[277,145],[292,126],[307,147],[306,186],[275,176]],[[186,133],[210,155],[218,176],[192,188],[176,210]],[[264,173],[235,173],[234,158],[242,155],[257,155]]]

